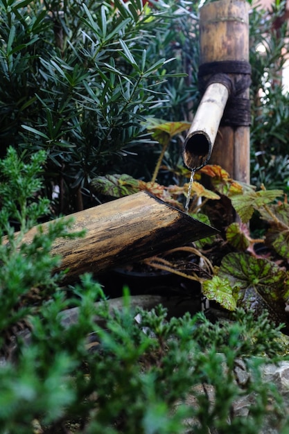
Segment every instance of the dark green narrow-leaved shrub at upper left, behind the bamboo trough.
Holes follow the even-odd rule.
[[[168,72],[185,75],[154,42],[170,46],[166,10],[141,0],[0,1],[0,156],[8,146],[45,150],[55,214],[96,203],[91,177],[132,146],[152,146],[142,121],[167,105]]]

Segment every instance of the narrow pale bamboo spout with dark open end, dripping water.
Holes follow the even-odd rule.
[[[222,83],[211,83],[204,92],[184,141],[183,159],[188,168],[196,171],[207,164],[228,98],[229,90]]]

